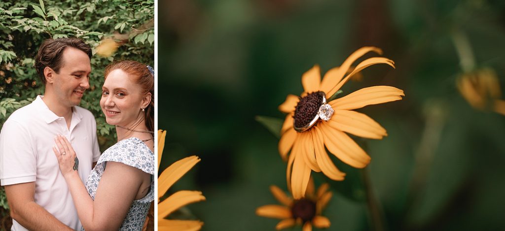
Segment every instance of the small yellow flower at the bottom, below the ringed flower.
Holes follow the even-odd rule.
[[[288,197],[279,187],[270,186],[270,191],[274,197],[283,205],[264,205],[256,209],[258,216],[281,219],[275,228],[277,230],[303,225],[304,231],[312,230],[314,225],[317,228],[330,227],[330,220],[321,215],[332,197],[331,192],[327,192],[328,184],[322,184],[317,193],[314,192],[314,182],[310,181],[307,188],[306,197],[293,200]]]

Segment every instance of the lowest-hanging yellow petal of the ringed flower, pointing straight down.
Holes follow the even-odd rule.
[[[291,194],[295,200],[305,195],[307,184],[311,177],[311,168],[305,164],[303,157],[300,156],[304,153],[299,144],[300,143],[295,143],[293,146],[293,154],[296,156],[294,157],[291,175]]]

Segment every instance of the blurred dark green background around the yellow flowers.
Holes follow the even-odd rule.
[[[184,215],[204,221],[203,230],[275,229],[279,220],[255,209],[278,204],[268,187],[287,190],[286,164],[255,117],[283,120],[277,107],[302,92],[304,72],[319,64],[324,74],[367,45],[396,69],[372,66],[343,94],[373,85],[406,94],[358,109],[387,137],[353,137],[372,157],[385,229],[505,230],[505,117],[460,95],[453,39],[466,37],[476,68],[491,68],[505,86],[505,2],[160,1],[158,20],[158,121],[168,130],[160,169],[200,156],[168,194],[203,191],[207,201]],[[334,162],[348,177],[331,182],[329,230],[371,229],[360,172]],[[313,176],[316,186],[328,181]]]

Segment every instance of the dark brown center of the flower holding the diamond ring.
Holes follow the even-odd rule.
[[[311,123],[321,104],[323,104],[323,96],[318,92],[312,92],[301,98],[294,110],[294,126],[302,128]]]

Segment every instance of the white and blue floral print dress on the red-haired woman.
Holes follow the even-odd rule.
[[[128,214],[126,215],[123,224],[119,230],[141,230],[149,210],[150,202],[155,198],[155,155],[144,144],[144,142],[136,137],[121,140],[109,149],[107,149],[98,159],[96,166],[91,170],[86,181],[86,189],[94,200],[96,189],[100,182],[100,178],[104,174],[107,161],[124,163],[129,166],[136,167],[151,175],[151,187],[147,195],[139,200],[133,201]],[[82,228],[81,230],[84,230]]]

